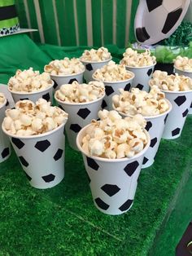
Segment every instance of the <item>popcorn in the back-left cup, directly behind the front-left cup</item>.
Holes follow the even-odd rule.
[[[33,71],[33,68],[24,71],[18,69],[15,76],[9,79],[8,88],[13,92],[35,92],[46,89],[52,83],[48,73],[40,74],[39,71]]]

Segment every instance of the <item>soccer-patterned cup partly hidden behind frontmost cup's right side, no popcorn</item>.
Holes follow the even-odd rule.
[[[144,117],[146,119],[145,129],[149,132],[149,135],[151,137],[151,143],[150,143],[150,147],[148,148],[148,150],[144,155],[142,168],[152,166],[152,164],[154,163],[154,158],[159,148],[159,143],[162,138],[166,120],[168,118],[168,113],[170,113],[172,110],[172,104],[168,101],[168,99],[166,100],[169,105],[168,111],[166,111],[165,113],[159,114],[157,116]],[[119,113],[122,117],[132,117],[129,115],[125,115],[124,113],[121,113],[121,112]]]

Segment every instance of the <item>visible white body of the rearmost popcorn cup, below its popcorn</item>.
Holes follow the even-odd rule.
[[[85,82],[88,83],[90,81],[93,81],[93,74],[94,72],[98,69],[98,68],[102,68],[104,65],[106,65],[112,58],[110,58],[109,60],[103,60],[103,61],[84,61],[81,60],[82,64],[84,64],[85,66],[85,73],[84,73],[84,78],[85,78]]]

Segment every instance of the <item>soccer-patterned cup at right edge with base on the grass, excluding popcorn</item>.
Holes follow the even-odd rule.
[[[185,124],[186,116],[192,102],[192,90],[185,91],[164,91],[166,99],[172,104],[172,111],[168,113],[162,138],[177,139]]]

